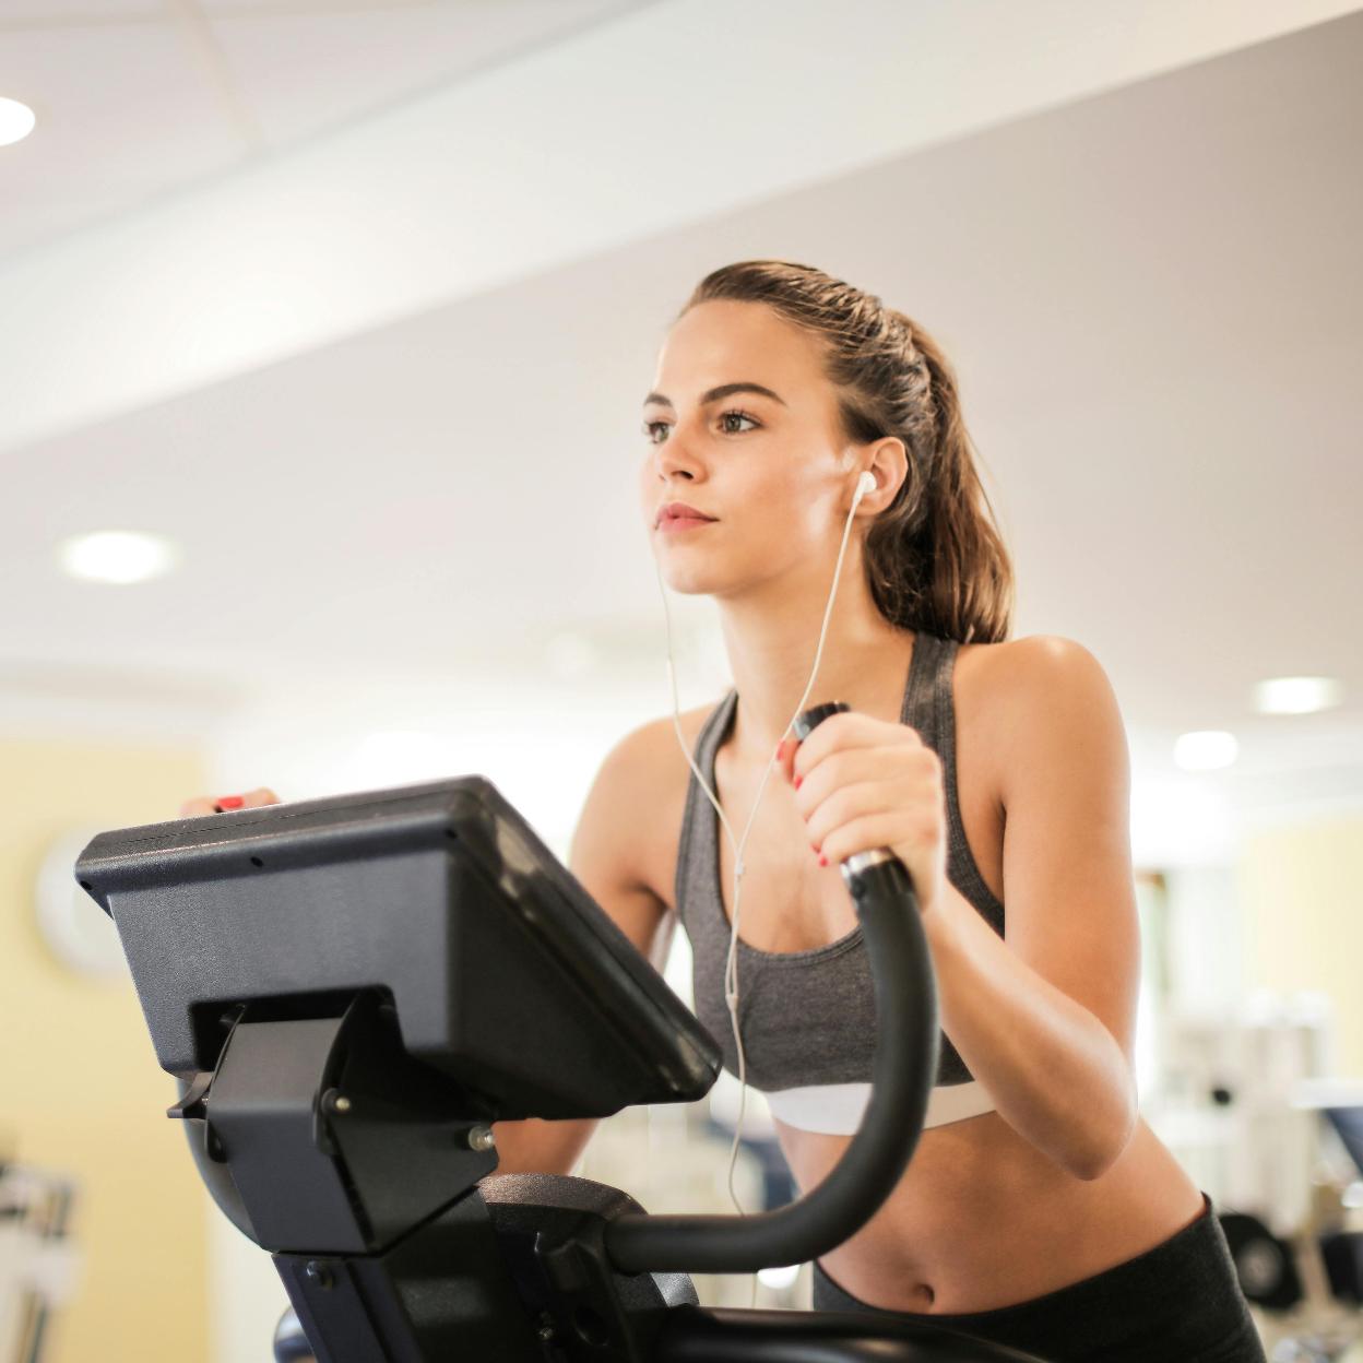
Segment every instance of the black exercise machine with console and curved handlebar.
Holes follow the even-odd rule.
[[[75,875],[117,924],[179,1079],[168,1115],[289,1293],[277,1359],[1025,1363],[893,1317],[706,1310],[686,1276],[829,1251],[913,1154],[936,1070],[931,957],[902,863],[853,863],[871,1103],[823,1183],[747,1217],[489,1178],[493,1120],[694,1101],[721,1052],[485,778],[102,833]]]

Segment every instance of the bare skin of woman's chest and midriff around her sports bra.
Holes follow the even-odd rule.
[[[966,841],[985,885],[1005,901],[1003,822],[998,751],[987,725],[1006,724],[999,668],[1007,645],[962,645],[955,665],[957,788]],[[905,671],[898,679],[902,695]],[[991,675],[992,673],[992,675]],[[880,718],[898,718],[887,676]],[[991,694],[992,692],[992,694]],[[688,746],[709,707],[683,716]],[[664,721],[671,729],[671,721]],[[676,751],[658,807],[668,830],[650,848],[650,887],[672,901],[682,811],[690,769]],[[743,827],[758,784],[756,763],[716,756],[716,789],[731,825]],[[728,906],[732,848],[721,838]],[[836,868],[814,866],[803,823],[782,785],[770,782],[748,846],[740,935],[761,950],[803,950],[831,942],[855,924]],[[808,864],[807,864],[808,863]],[[801,1190],[837,1164],[849,1137],[777,1123]],[[1030,1300],[1144,1254],[1202,1213],[1202,1194],[1146,1123],[1097,1179],[1075,1178],[1017,1134],[996,1112],[923,1133],[908,1171],[880,1210],[846,1243],[822,1257],[829,1276],[863,1302],[887,1310],[960,1314]]]

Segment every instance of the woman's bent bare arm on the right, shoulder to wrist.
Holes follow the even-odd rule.
[[[942,1026],[1020,1135],[1081,1179],[1126,1148],[1141,938],[1130,759],[1116,696],[1081,645],[1005,646],[1006,940],[947,882],[924,917]]]

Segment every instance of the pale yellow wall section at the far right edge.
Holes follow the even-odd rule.
[[[1363,1077],[1363,816],[1257,833],[1236,878],[1249,983],[1328,994],[1337,1069]]]

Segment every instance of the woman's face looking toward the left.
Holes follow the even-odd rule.
[[[664,581],[732,596],[837,555],[855,473],[818,342],[759,303],[691,308],[643,405],[639,493]],[[658,521],[682,502],[713,521]]]

